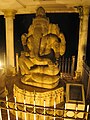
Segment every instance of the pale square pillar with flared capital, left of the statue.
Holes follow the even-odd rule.
[[[15,17],[15,10],[4,10],[5,30],[6,30],[6,66],[15,67],[14,59],[14,28],[13,19]]]

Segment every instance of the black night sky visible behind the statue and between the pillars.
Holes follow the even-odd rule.
[[[79,14],[78,13],[47,13],[47,17],[50,19],[50,23],[58,24],[60,31],[64,33],[66,38],[66,52],[65,57],[71,57],[78,53],[78,40],[79,40]],[[28,32],[29,26],[32,24],[32,20],[35,18],[35,14],[16,15],[14,19],[14,42],[15,53],[19,53],[23,49],[21,44],[21,35]],[[89,19],[90,26],[90,19]],[[87,64],[90,66],[90,27],[88,30],[87,41]],[[4,16],[0,16],[0,53],[5,52],[5,19]]]

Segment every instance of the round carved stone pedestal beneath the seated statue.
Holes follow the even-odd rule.
[[[30,105],[38,105],[44,107],[54,107],[54,102],[56,102],[56,106],[62,102],[64,102],[64,88],[62,86],[57,86],[54,89],[44,89],[39,87],[34,87],[30,85],[25,85],[21,82],[21,80],[16,81],[14,85],[14,96],[16,97],[16,101],[20,103],[28,104],[27,109],[30,109]],[[45,103],[44,103],[45,102]],[[22,105],[18,106],[22,111]],[[37,108],[36,108],[37,109]],[[32,107],[33,111],[33,107]],[[44,110],[42,110],[43,114]],[[60,113],[61,114],[61,113]],[[36,114],[28,114],[26,113],[28,120],[33,120],[36,115],[36,120],[43,120],[43,115]],[[23,112],[18,112],[19,118],[22,120],[25,119],[25,114]],[[49,120],[49,116],[46,116],[46,120]]]

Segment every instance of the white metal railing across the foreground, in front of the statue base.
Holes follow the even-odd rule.
[[[5,104],[4,106],[2,104]],[[33,114],[33,120],[36,120],[36,115],[40,115],[43,117],[43,120],[46,120],[46,117],[51,117],[53,120],[56,120],[57,118],[59,119],[77,119],[77,115],[79,112],[84,113],[83,118],[79,118],[79,120],[88,120],[88,115],[90,114],[89,112],[89,105],[86,106],[85,111],[80,111],[80,110],[70,110],[70,109],[64,109],[64,108],[58,108],[56,105],[56,102],[54,101],[54,105],[52,107],[46,107],[45,106],[45,101],[43,106],[38,106],[35,104],[26,104],[25,100],[24,103],[20,103],[16,101],[16,97],[14,98],[14,101],[9,101],[8,97],[6,96],[6,100],[0,100],[0,120],[3,120],[5,116],[2,114],[3,111],[7,111],[7,119],[4,120],[10,120],[11,119],[11,111],[15,112],[15,119],[18,120],[18,112],[21,112],[24,114],[24,120],[27,119],[27,115]],[[10,107],[13,106],[13,107]],[[20,109],[20,107],[22,109]],[[63,114],[59,115],[58,112],[62,112]],[[75,115],[73,117],[68,117],[67,113],[68,111],[72,111]],[[51,114],[52,113],[52,114]],[[12,119],[11,119],[12,120]],[[49,120],[49,119],[48,119]]]

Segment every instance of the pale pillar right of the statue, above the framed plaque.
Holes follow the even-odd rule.
[[[77,73],[82,75],[83,71],[83,58],[86,58],[86,47],[87,47],[87,35],[88,35],[88,19],[89,19],[89,8],[80,8],[80,28],[79,28],[79,43],[78,43],[78,57],[77,57]]]

